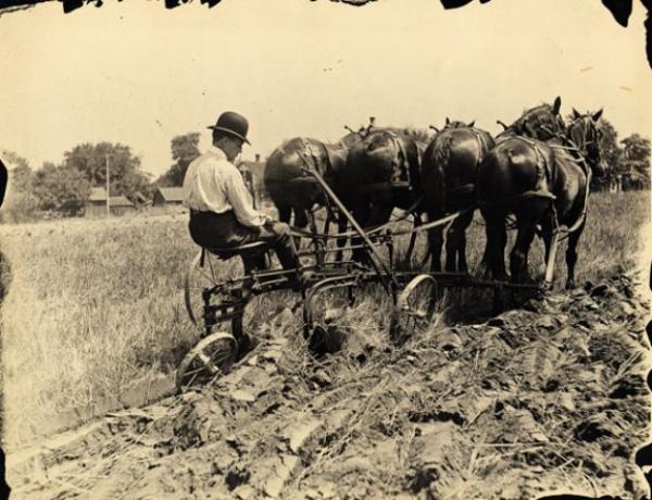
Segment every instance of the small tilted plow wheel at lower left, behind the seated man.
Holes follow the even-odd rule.
[[[228,373],[238,353],[238,342],[225,332],[202,338],[181,360],[176,373],[176,386],[186,390],[204,385]]]

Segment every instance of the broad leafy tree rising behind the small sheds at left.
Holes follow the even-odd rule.
[[[137,192],[151,192],[149,174],[140,171],[140,159],[128,146],[99,142],[83,143],[63,153],[63,166],[77,171],[93,186],[105,186],[109,166],[111,196],[123,195],[134,199]],[[71,175],[74,176],[73,173]]]

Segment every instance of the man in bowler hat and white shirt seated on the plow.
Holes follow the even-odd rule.
[[[289,226],[274,222],[253,208],[242,174],[234,161],[249,142],[249,123],[238,113],[222,113],[213,130],[213,146],[188,166],[184,178],[184,205],[190,209],[190,236],[208,248],[239,247],[265,241],[286,270],[298,268],[299,260]],[[244,268],[261,268],[261,254],[242,255]],[[290,277],[300,286],[299,272]]]

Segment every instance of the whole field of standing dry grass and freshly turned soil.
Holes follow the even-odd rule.
[[[561,290],[562,245],[550,298],[490,320],[488,293],[450,293],[436,324],[401,349],[386,339],[390,304],[376,288],[347,312],[346,352],[322,362],[305,352],[292,295],[256,299],[246,324],[263,340],[247,364],[252,377],[261,372],[253,382],[235,372],[115,416],[82,447],[64,447],[67,459],[46,457],[47,478],[28,479],[30,465],[14,480],[25,496],[61,498],[192,498],[205,488],[214,498],[528,498],[549,487],[640,496],[630,455],[649,435],[648,303],[636,272],[649,196],[591,197],[579,290]],[[185,215],[2,226],[0,238],[11,471],[12,450],[34,448],[54,415],[175,370],[198,338],[181,289],[197,249]],[[478,216],[468,238],[476,263]],[[541,247],[529,260],[539,276]],[[175,465],[181,453],[185,468]]]

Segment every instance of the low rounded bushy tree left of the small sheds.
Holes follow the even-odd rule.
[[[46,162],[34,174],[34,193],[41,210],[78,215],[90,195],[90,183],[76,168]]]

